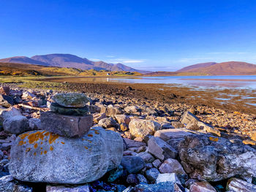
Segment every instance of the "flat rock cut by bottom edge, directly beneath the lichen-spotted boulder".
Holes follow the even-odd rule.
[[[47,185],[46,192],[90,192],[89,185]]]

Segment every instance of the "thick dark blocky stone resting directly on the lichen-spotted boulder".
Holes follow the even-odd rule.
[[[70,116],[54,112],[42,112],[41,128],[63,137],[81,137],[93,125],[92,115]]]

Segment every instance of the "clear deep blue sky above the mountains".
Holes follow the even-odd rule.
[[[0,7],[0,58],[70,53],[153,71],[256,64],[255,0],[1,0]]]

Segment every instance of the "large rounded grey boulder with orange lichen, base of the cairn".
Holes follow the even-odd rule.
[[[10,155],[10,173],[18,180],[89,183],[119,166],[123,141],[119,134],[101,127],[91,128],[80,138],[30,131],[17,137]]]

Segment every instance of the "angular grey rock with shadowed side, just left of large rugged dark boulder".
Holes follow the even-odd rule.
[[[167,142],[159,137],[151,137],[148,140],[148,152],[160,160],[176,158],[176,155],[178,154],[173,147],[170,147]]]

